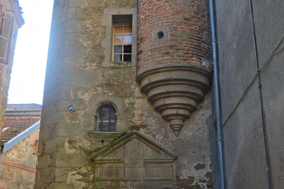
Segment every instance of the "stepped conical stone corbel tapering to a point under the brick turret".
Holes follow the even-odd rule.
[[[166,64],[137,74],[142,93],[179,136],[184,121],[210,88],[211,71],[191,64]]]

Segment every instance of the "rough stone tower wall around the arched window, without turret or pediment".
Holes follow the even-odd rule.
[[[105,42],[109,26],[105,26],[102,15],[110,7],[116,12],[125,11],[136,8],[137,1],[54,1],[39,134],[41,156],[34,188],[93,188],[96,170],[90,156],[110,141],[95,133],[94,125],[95,107],[105,100],[119,111],[118,131],[138,130],[178,156],[177,188],[213,188],[215,157],[210,148],[215,148],[211,145],[215,130],[210,95],[176,137],[147,96],[141,94],[135,81],[136,66],[127,62],[102,65],[110,48]],[[71,104],[76,109],[72,114],[67,108]]]

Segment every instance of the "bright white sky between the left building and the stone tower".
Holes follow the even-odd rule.
[[[7,103],[42,104],[53,0],[19,0],[19,29]]]

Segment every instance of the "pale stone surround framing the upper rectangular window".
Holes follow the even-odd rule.
[[[129,66],[136,66],[137,62],[137,7],[105,8],[101,15],[101,26],[105,26],[105,37],[101,41],[104,48],[102,67],[112,66],[112,15],[132,14],[132,56]]]

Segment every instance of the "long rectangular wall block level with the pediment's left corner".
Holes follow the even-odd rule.
[[[79,153],[57,152],[54,155],[53,164],[56,167],[83,167],[86,164],[86,158]]]

